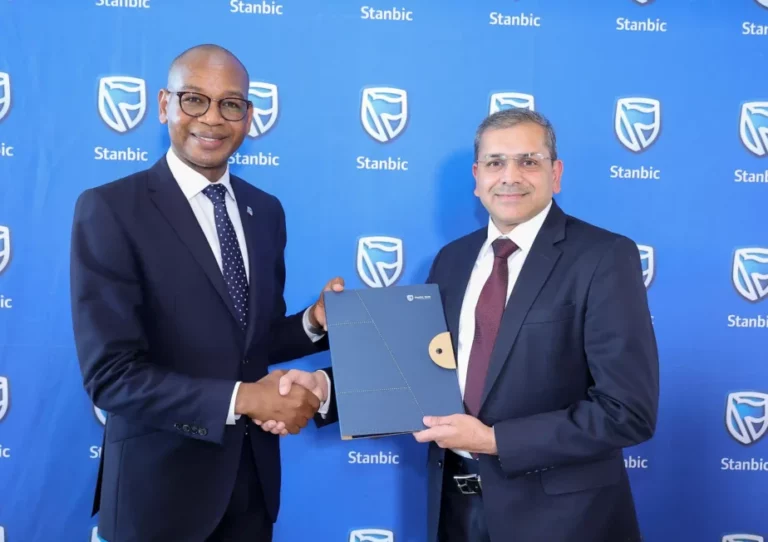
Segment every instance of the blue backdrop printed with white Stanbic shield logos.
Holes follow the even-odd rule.
[[[0,0],[5,540],[94,536],[103,417],[73,347],[73,205],[167,150],[158,90],[205,42],[250,71],[232,171],[285,206],[292,312],[335,275],[422,282],[486,224],[478,123],[547,115],[560,205],[643,255],[661,411],[626,461],[646,540],[768,540],[768,0],[363,1]],[[277,541],[424,540],[412,437],[307,429],[283,460]]]

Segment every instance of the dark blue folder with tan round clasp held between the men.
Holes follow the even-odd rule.
[[[437,285],[326,292],[325,314],[342,439],[465,412]]]

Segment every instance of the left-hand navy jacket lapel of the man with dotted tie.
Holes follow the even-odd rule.
[[[187,246],[200,267],[203,268],[211,285],[219,293],[224,305],[237,322],[235,306],[227,291],[227,285],[224,282],[219,264],[216,262],[216,257],[211,251],[208,240],[205,238],[187,198],[173,178],[165,157],[161,158],[150,170],[149,191],[152,201]]]

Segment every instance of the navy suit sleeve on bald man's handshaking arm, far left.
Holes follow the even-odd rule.
[[[193,378],[153,363],[142,322],[140,262],[94,190],[75,206],[70,295],[83,384],[96,406],[189,438],[222,441],[235,382]]]

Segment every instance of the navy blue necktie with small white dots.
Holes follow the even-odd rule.
[[[235,228],[227,213],[226,195],[227,187],[221,184],[206,186],[203,194],[213,202],[213,211],[216,217],[216,232],[219,234],[221,246],[221,263],[224,281],[227,290],[235,305],[240,327],[245,329],[248,325],[248,277],[245,274],[243,254],[240,252],[240,243],[237,241]]]

